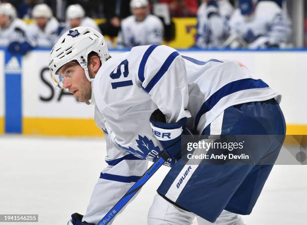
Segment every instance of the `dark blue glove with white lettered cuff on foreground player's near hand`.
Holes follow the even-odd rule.
[[[181,158],[181,135],[193,135],[186,127],[187,118],[176,123],[167,123],[165,115],[157,109],[150,116],[150,125],[164,151],[173,159]]]

